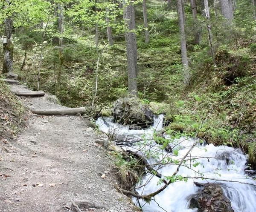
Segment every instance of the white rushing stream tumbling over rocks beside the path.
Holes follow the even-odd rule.
[[[175,149],[178,150],[177,156],[160,149],[160,145],[154,143],[150,138],[152,138],[154,132],[162,129],[163,115],[155,117],[154,126],[144,130],[129,130],[128,126],[113,123],[112,120],[113,119],[110,117],[104,119],[99,118],[96,124],[103,132],[114,134],[118,142],[120,142],[120,140],[124,141],[122,143],[124,149],[130,149],[140,155],[149,150],[152,154],[157,152],[157,156],[159,157],[157,160],[167,160],[167,158],[180,160],[194,143],[193,139],[186,138],[173,141],[171,146],[173,147],[173,151],[175,151]],[[144,142],[144,145],[129,145],[133,143],[133,141],[138,140],[140,140],[141,143]],[[145,140],[148,140],[146,144]],[[221,184],[224,195],[230,199],[235,212],[256,212],[256,180],[245,175],[244,168],[247,155],[244,155],[241,150],[233,149],[228,146],[214,146],[212,144],[195,146],[192,152],[187,156],[187,159],[186,166],[189,168],[181,166],[177,175],[183,177],[189,176],[191,179],[187,182],[177,181],[172,183],[154,198],[155,202],[151,201],[150,204],[145,204],[145,202],[141,201],[141,206],[145,204],[143,206],[144,212],[196,212],[196,208],[189,209],[190,199],[196,195],[199,189],[195,186],[194,181],[213,183],[216,182],[216,180]],[[155,162],[157,162],[155,158],[148,157],[148,163]],[[199,164],[196,166],[195,163]],[[157,168],[157,171],[162,176],[172,176],[177,169],[177,165],[158,166]],[[202,174],[204,178],[208,179],[202,180]],[[147,183],[147,185],[137,189],[137,192],[145,195],[156,191],[163,186],[163,183],[157,186],[159,180],[160,178],[148,173],[141,182],[141,184]],[[134,203],[137,203],[137,199],[135,198]]]

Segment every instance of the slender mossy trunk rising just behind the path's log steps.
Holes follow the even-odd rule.
[[[63,50],[63,32],[64,32],[64,14],[63,14],[63,6],[58,4],[58,28],[61,37],[59,38],[59,67],[58,67],[58,77],[57,77],[57,90],[61,89],[61,72],[63,69],[64,63],[64,50]]]

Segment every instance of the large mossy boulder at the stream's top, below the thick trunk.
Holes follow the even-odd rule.
[[[142,103],[140,99],[120,98],[114,103],[113,116],[122,124],[132,124],[146,128],[153,125],[154,114],[149,105]]]

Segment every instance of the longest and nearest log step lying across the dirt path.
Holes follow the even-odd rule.
[[[85,107],[62,108],[62,109],[31,109],[32,113],[38,115],[76,115],[86,113]]]

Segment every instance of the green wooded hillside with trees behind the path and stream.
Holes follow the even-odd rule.
[[[2,0],[0,34],[2,78],[87,115],[135,98],[172,138],[239,148],[256,168],[255,0]]]

